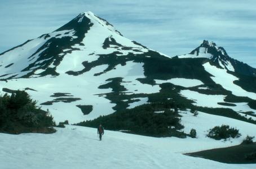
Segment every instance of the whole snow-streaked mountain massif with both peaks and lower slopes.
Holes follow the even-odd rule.
[[[27,90],[56,122],[166,100],[256,119],[255,74],[213,42],[169,57],[123,37],[92,12],[0,54],[2,91]]]

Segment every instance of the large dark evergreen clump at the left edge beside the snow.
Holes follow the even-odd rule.
[[[22,132],[52,133],[55,129],[53,117],[36,106],[25,91],[15,91],[0,96],[0,132],[20,134]]]

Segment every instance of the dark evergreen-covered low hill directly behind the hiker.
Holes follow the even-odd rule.
[[[161,113],[160,113],[161,112]],[[78,126],[98,127],[155,137],[186,137],[180,124],[180,115],[174,104],[153,103],[137,106],[113,114],[100,116],[91,121],[77,123]]]

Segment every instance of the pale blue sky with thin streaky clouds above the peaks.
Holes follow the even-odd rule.
[[[256,68],[255,6],[254,0],[0,0],[0,53],[92,11],[164,54],[187,54],[207,39]]]

